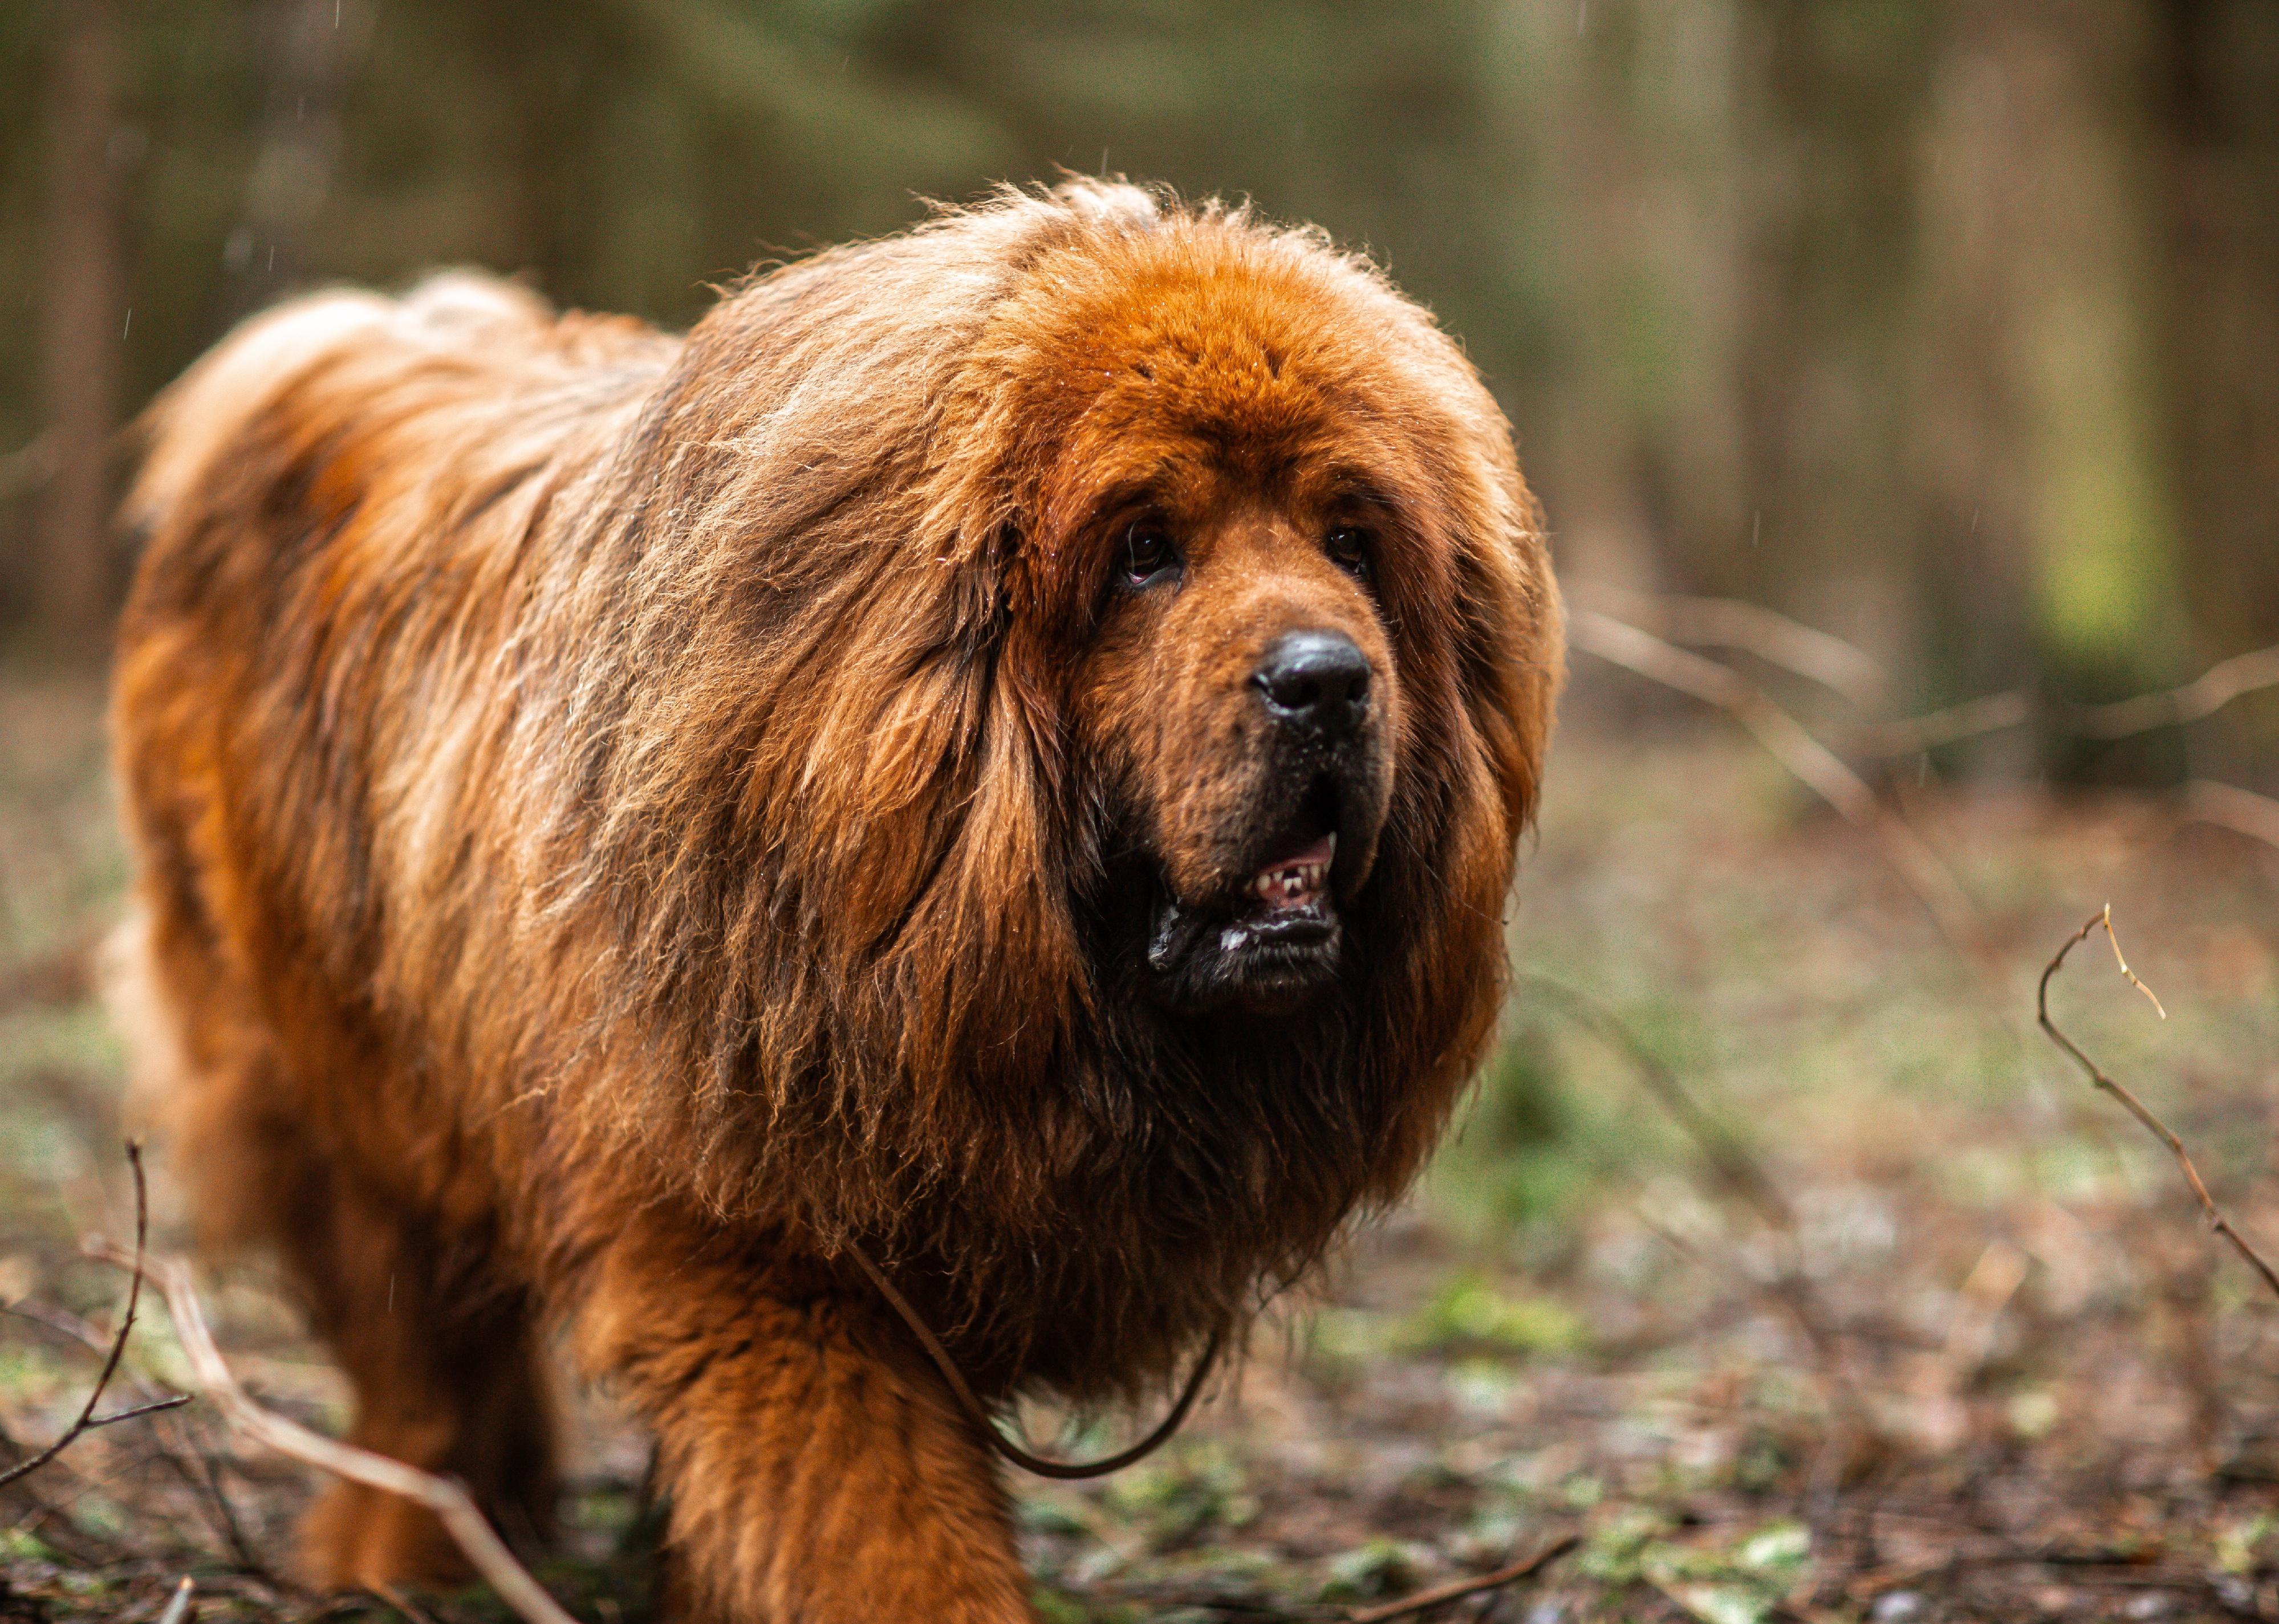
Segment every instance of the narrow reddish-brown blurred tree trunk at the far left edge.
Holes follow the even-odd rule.
[[[125,339],[114,0],[62,0],[48,118],[46,307],[41,312],[50,467],[39,531],[34,615],[66,658],[103,654],[109,610],[112,433]]]

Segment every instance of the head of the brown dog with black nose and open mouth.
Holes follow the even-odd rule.
[[[1358,941],[1388,843],[1500,852],[1486,891],[1404,877],[1497,911],[1557,661],[1531,508],[1454,346],[1317,237],[1140,210],[1073,237],[975,374],[1076,879],[1158,1007],[1304,1009],[1390,948]]]

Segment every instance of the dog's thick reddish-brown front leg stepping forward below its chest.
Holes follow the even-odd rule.
[[[581,1342],[656,1430],[672,1624],[1030,1624],[996,1467],[907,1332],[627,1235]]]

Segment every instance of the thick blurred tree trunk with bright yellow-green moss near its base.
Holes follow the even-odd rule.
[[[2176,376],[2158,317],[2167,25],[2154,0],[1953,7],[1921,182],[1917,415],[1937,522],[1969,535],[1946,556],[1967,686],[2040,676],[2113,699],[2183,663]],[[2044,745],[2065,779],[2179,770],[2165,733]]]

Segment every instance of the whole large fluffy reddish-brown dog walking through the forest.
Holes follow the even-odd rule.
[[[1005,194],[686,339],[442,278],[155,412],[141,1071],[353,1437],[542,1522],[545,1330],[684,1619],[1028,1617],[969,1417],[1158,1389],[1411,1180],[1561,665],[1509,430],[1313,232]],[[335,1487],[328,1585],[444,1578]]]

